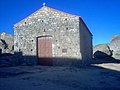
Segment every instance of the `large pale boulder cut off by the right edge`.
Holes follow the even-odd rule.
[[[115,35],[110,40],[110,49],[113,51],[113,57],[120,59],[120,35]]]

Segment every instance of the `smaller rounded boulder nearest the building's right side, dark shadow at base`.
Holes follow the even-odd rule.
[[[106,58],[112,55],[108,44],[99,44],[93,47],[94,58]]]

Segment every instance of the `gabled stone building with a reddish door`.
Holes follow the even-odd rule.
[[[14,50],[27,63],[86,64],[92,58],[92,34],[81,17],[43,5],[14,25]]]

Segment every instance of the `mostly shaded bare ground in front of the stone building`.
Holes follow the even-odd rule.
[[[0,90],[120,90],[120,64],[0,68]]]

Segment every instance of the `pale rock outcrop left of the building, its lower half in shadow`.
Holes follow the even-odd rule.
[[[18,60],[12,54],[14,52],[14,36],[7,33],[0,35],[0,67],[15,66]]]

